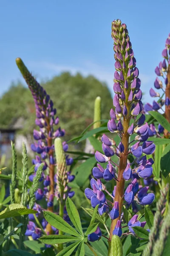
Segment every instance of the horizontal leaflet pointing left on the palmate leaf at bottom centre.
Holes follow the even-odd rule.
[[[63,244],[63,243],[77,241],[81,239],[76,236],[49,235],[49,236],[42,236],[38,240],[40,240],[44,244]]]

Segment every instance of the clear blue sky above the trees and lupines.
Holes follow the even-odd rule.
[[[2,0],[0,95],[21,79],[17,57],[40,80],[80,71],[106,81],[112,90],[111,22],[119,18],[127,24],[144,100],[150,101],[154,69],[170,33],[169,13],[169,0]]]

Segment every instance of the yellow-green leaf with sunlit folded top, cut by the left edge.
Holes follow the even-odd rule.
[[[5,210],[0,212],[0,219],[26,215],[30,213],[35,214],[37,211],[34,211],[33,209],[27,209],[21,204],[10,204]]]

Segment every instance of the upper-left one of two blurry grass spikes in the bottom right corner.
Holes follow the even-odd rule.
[[[149,234],[149,242],[147,243],[146,248],[143,251],[142,256],[151,256],[153,253],[153,247],[155,242],[159,238],[159,231],[161,227],[161,221],[163,220],[163,209],[165,207],[167,201],[167,193],[169,191],[169,184],[165,186],[163,190],[161,190],[161,195],[159,201],[156,203],[156,213],[154,215],[153,227],[150,230]]]

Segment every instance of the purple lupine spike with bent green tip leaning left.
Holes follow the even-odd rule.
[[[28,84],[28,88],[31,91],[31,94],[34,98],[35,108],[36,108],[36,120],[35,124],[39,127],[39,130],[34,130],[34,144],[31,144],[32,151],[36,152],[36,157],[33,160],[35,165],[34,171],[37,172],[38,167],[41,163],[44,163],[43,173],[41,180],[44,180],[44,191],[38,189],[35,193],[36,199],[40,200],[45,197],[47,201],[48,211],[54,211],[54,197],[57,193],[56,186],[56,174],[55,174],[55,165],[56,158],[54,155],[54,139],[57,137],[63,137],[65,131],[60,127],[56,128],[59,124],[59,117],[56,115],[57,110],[54,108],[54,103],[50,99],[50,96],[46,93],[44,88],[36,81],[36,79],[28,71],[27,67],[24,65],[23,61],[20,58],[16,59],[17,66],[20,72],[23,75],[23,78]],[[62,143],[64,151],[68,150],[68,145],[66,142]],[[73,159],[69,158],[66,155],[66,164],[71,165]],[[30,181],[33,181],[34,175],[29,177]],[[66,172],[66,177],[69,181],[74,180],[74,175],[70,175],[70,172]],[[67,189],[67,196],[70,197],[74,195],[74,192],[70,192],[71,188]],[[40,208],[40,206],[38,206]],[[36,208],[36,206],[35,206]],[[37,209],[39,210],[39,209]],[[52,227],[50,224],[46,225],[46,232],[51,234],[53,233]]]

